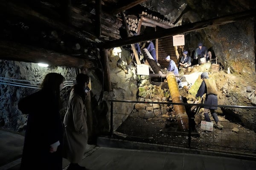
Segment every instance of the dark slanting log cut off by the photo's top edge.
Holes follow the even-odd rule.
[[[119,12],[125,11],[126,9],[130,9],[134,6],[137,6],[140,3],[143,3],[146,0],[122,0],[122,4],[117,4],[116,8],[109,11],[111,14],[117,14]]]

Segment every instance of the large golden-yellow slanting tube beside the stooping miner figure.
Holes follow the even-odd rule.
[[[166,75],[170,95],[172,97],[173,103],[183,103],[183,100],[180,96],[179,88],[177,85],[177,80],[174,73],[168,73]],[[189,130],[189,117],[186,113],[184,105],[173,105],[175,116],[178,122],[178,127],[180,130],[188,131]]]

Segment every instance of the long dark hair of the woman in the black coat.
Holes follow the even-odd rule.
[[[64,82],[64,77],[61,74],[48,73],[41,84],[42,90],[52,92],[56,102],[58,103],[58,108],[61,108],[60,85],[62,82]]]

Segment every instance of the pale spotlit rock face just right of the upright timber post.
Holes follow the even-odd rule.
[[[109,54],[110,80],[113,91],[108,94],[108,99],[137,101],[137,74],[128,49],[120,48],[121,54]],[[118,50],[120,50],[118,49]],[[115,50],[115,49],[113,49]],[[120,55],[120,57],[119,57]],[[113,103],[113,130],[116,130],[133,111],[135,103]],[[109,107],[110,108],[110,107]],[[108,114],[110,122],[110,114]]]

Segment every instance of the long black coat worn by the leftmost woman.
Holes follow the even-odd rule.
[[[29,114],[20,170],[62,170],[63,124],[54,95],[40,90],[21,99],[18,108]],[[57,151],[50,153],[57,141]]]

